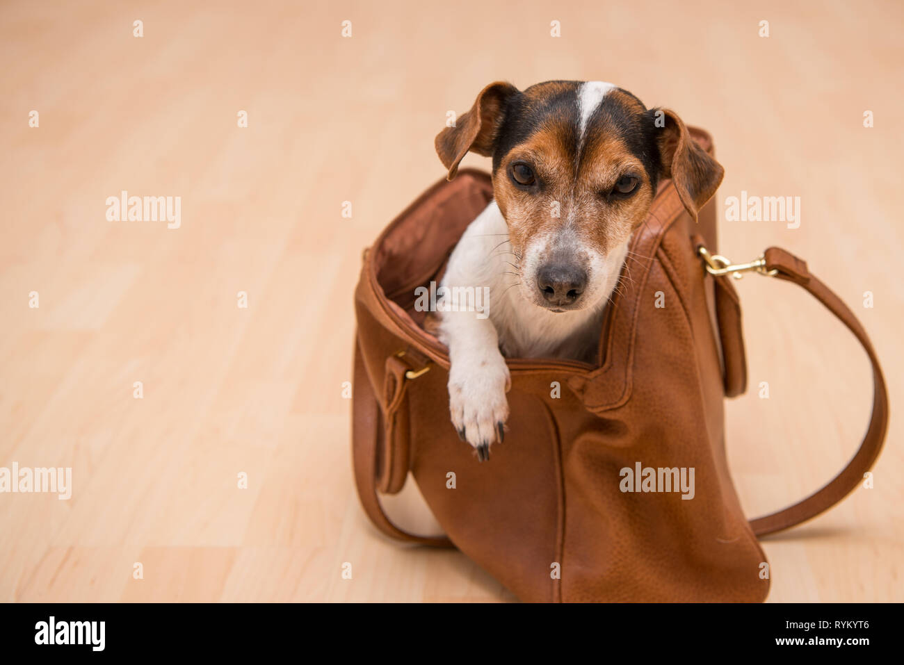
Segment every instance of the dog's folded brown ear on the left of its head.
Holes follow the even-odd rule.
[[[448,180],[458,171],[458,163],[473,150],[477,155],[493,155],[496,133],[502,124],[505,102],[518,89],[511,83],[490,83],[477,95],[471,110],[457,118],[456,126],[439,132],[436,141],[437,155],[449,170]]]

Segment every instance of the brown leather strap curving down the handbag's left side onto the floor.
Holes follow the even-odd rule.
[[[381,423],[380,405],[373,394],[371,379],[361,353],[361,345],[355,333],[354,344],[354,377],[352,383],[352,458],[354,480],[358,489],[358,497],[364,512],[371,518],[374,526],[384,534],[397,540],[407,540],[419,545],[433,548],[455,547],[446,537],[430,538],[416,536],[399,529],[391,522],[380,505],[377,496],[378,460],[377,454],[382,449],[376,437],[384,433]],[[406,458],[407,461],[407,458]],[[407,473],[407,469],[406,469]]]

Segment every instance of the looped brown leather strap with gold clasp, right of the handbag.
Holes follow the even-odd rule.
[[[732,274],[754,270],[803,287],[848,327],[862,344],[872,364],[872,415],[860,448],[841,473],[826,483],[821,490],[783,510],[750,520],[753,532],[757,536],[765,536],[814,518],[824,510],[832,508],[860,484],[863,474],[870,470],[879,456],[888,428],[889,398],[885,389],[885,379],[882,377],[876,351],[872,348],[870,338],[857,317],[828,286],[810,274],[805,261],[777,247],[768,248],[757,260],[738,266],[732,266],[724,257],[710,255],[702,245],[698,245],[697,252],[706,261],[706,269],[717,279],[729,279]]]

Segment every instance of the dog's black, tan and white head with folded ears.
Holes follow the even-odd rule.
[[[599,81],[492,83],[436,146],[449,180],[469,150],[493,157],[522,293],[554,312],[608,297],[660,179],[694,219],[722,179],[673,111]]]

